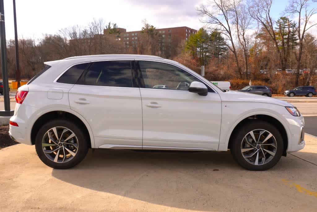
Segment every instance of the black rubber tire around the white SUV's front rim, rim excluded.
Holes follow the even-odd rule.
[[[246,136],[250,131],[256,130],[256,129],[264,129],[268,130],[270,132],[275,140],[276,140],[276,152],[275,156],[263,165],[255,165],[249,163],[242,154],[241,151],[241,145],[244,139],[244,136]],[[238,129],[233,135],[233,139],[230,143],[230,151],[233,156],[233,158],[236,160],[237,163],[239,163],[243,168],[252,170],[252,171],[263,171],[272,168],[275,166],[275,164],[281,159],[282,153],[284,149],[283,139],[281,136],[281,133],[276,129],[272,124],[261,121],[261,120],[255,120],[250,121],[246,124],[244,124],[240,129]]]

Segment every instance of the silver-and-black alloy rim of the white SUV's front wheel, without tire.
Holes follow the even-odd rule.
[[[264,165],[275,156],[277,143],[275,137],[265,129],[248,132],[241,142],[243,158],[252,165]]]

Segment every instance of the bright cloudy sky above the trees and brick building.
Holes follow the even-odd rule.
[[[142,20],[157,28],[187,26],[199,29],[196,8],[208,0],[16,0],[18,36],[41,38],[74,25],[85,26],[93,19],[117,23],[127,31],[141,30]],[[288,0],[275,0],[272,16],[282,14]],[[317,3],[314,3],[317,7]],[[14,39],[12,0],[4,0],[6,38]],[[317,22],[317,16],[313,19]],[[317,27],[312,31],[317,35]]]

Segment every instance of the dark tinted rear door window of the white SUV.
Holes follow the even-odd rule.
[[[131,61],[94,62],[76,84],[132,87]]]

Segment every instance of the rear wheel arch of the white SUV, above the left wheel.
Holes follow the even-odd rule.
[[[66,118],[70,120],[74,120],[76,124],[79,124],[81,128],[85,131],[87,137],[89,138],[88,146],[89,148],[95,148],[94,145],[94,136],[93,132],[90,128],[90,125],[88,122],[79,114],[77,114],[75,111],[72,111],[70,109],[51,109],[47,110],[41,115],[37,116],[35,121],[33,122],[32,128],[31,128],[31,133],[30,133],[30,140],[32,145],[35,144],[35,137],[36,137],[36,132],[40,129],[40,127],[53,119],[57,118]]]

